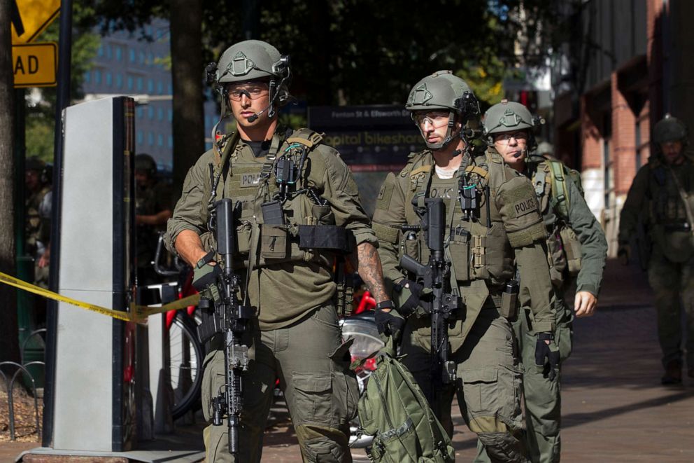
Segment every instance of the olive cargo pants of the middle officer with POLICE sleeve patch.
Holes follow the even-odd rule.
[[[431,389],[430,350],[416,339],[411,324],[402,340],[403,364],[425,394]],[[458,393],[458,406],[471,431],[486,445],[493,462],[525,462],[521,429],[520,371],[514,356],[511,325],[493,307],[483,309],[465,343],[451,360],[457,364],[458,381],[440,391],[439,420],[453,436],[451,403]],[[428,396],[428,395],[427,395]]]

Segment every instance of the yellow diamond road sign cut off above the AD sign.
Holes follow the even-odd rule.
[[[9,1],[12,2],[13,45],[36,40],[38,34],[41,34],[60,12],[60,0]]]

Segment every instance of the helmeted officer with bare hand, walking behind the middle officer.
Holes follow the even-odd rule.
[[[597,305],[607,240],[572,174],[559,160],[546,156],[551,145],[538,146],[545,156],[533,153],[534,120],[523,104],[502,102],[490,107],[484,117],[489,150],[532,182],[539,211],[548,232],[546,246],[555,290],[553,338],[564,361],[572,350],[574,315],[565,302],[567,286],[576,279],[576,317],[590,317]],[[549,153],[551,154],[551,153]],[[577,178],[578,180],[578,178]],[[521,280],[523,277],[521,276]],[[545,372],[534,366],[535,339],[530,308],[523,307],[514,322],[514,333],[523,363],[526,448],[532,462],[559,462],[561,441],[560,368]],[[561,363],[559,364],[561,366]],[[482,452],[477,461],[488,461]]]

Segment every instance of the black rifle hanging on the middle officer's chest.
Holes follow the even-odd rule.
[[[420,226],[404,226],[404,231],[423,230],[427,247],[430,250],[429,262],[424,265],[411,256],[400,258],[400,266],[416,275],[418,282],[425,288],[432,289],[431,301],[423,301],[422,307],[431,315],[431,388],[428,399],[436,413],[441,417],[439,396],[443,385],[455,382],[455,362],[448,360],[451,346],[448,343],[448,319],[455,310],[462,309],[462,298],[457,294],[446,292],[449,289],[448,278],[451,263],[444,256],[444,234],[446,231],[446,211],[441,198],[426,198],[424,207],[417,206],[415,211],[420,216]]]

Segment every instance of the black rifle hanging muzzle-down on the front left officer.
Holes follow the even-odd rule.
[[[253,307],[241,305],[236,297],[239,277],[234,274],[232,254],[234,252],[234,209],[232,200],[225,198],[215,202],[215,241],[217,252],[222,256],[222,272],[217,286],[220,301],[215,303],[215,312],[197,328],[201,343],[206,343],[215,334],[222,333],[224,339],[225,384],[219,395],[212,399],[212,424],[221,426],[226,415],[229,426],[229,453],[238,457],[239,417],[243,407],[241,375],[248,370],[248,345],[241,336],[248,329],[248,321],[254,316]]]

